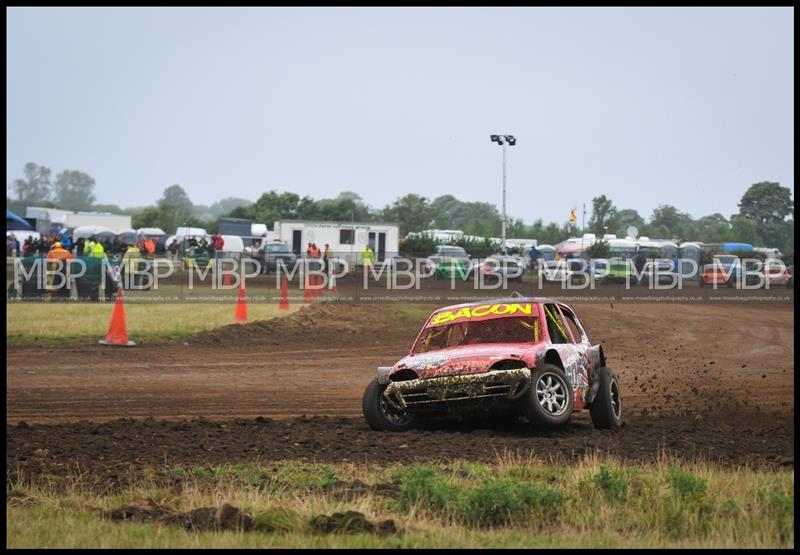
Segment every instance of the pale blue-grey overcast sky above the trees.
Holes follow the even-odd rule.
[[[6,179],[97,201],[406,193],[566,220],[794,190],[792,8],[7,10]]]

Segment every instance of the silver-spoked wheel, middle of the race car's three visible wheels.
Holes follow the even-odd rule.
[[[531,373],[531,387],[522,400],[523,413],[531,424],[552,429],[569,421],[575,395],[564,371],[544,364]]]

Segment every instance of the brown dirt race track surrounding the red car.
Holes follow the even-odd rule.
[[[627,422],[599,432],[577,415],[551,434],[521,423],[371,432],[360,417],[363,388],[420,324],[420,313],[387,310],[401,308],[315,306],[131,350],[11,348],[7,467],[57,472],[79,462],[116,475],[165,460],[491,458],[503,449],[637,460],[665,449],[794,464],[792,305],[577,305],[620,377]]]

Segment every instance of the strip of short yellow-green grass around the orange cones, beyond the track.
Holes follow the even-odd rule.
[[[248,321],[268,320],[300,309],[291,305],[280,310],[272,303],[249,303]],[[8,303],[6,341],[9,344],[105,337],[114,303]],[[128,336],[136,341],[182,339],[193,333],[235,323],[236,307],[223,304],[126,303]]]

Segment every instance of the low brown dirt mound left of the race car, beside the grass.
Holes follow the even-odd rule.
[[[231,324],[198,333],[190,336],[187,342],[241,346],[248,341],[258,341],[262,345],[281,345],[302,342],[305,338],[337,346],[380,345],[387,340],[410,341],[409,337],[419,331],[424,319],[417,314],[398,313],[391,305],[318,303],[284,318]]]

